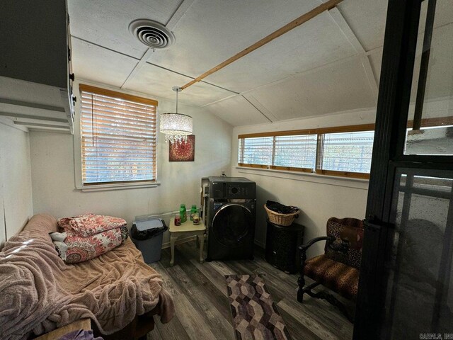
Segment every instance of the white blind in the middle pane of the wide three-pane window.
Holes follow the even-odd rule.
[[[315,169],[316,135],[275,137],[275,166]]]

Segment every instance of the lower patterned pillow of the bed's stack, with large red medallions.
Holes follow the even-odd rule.
[[[65,263],[79,263],[94,259],[122,244],[127,239],[127,227],[106,230],[90,237],[81,237],[71,231],[52,232],[50,237]]]

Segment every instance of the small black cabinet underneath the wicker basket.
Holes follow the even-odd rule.
[[[265,260],[285,273],[299,272],[300,254],[297,247],[303,242],[304,226],[297,223],[282,226],[269,220],[267,222]]]

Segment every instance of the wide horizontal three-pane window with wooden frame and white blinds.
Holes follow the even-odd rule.
[[[239,135],[239,166],[369,178],[374,125]]]

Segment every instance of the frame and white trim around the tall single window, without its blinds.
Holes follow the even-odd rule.
[[[103,86],[103,85],[102,85]],[[74,86],[74,89],[78,91],[80,100],[76,102],[77,123],[74,125],[74,177],[75,187],[81,191],[108,191],[108,190],[121,190],[127,188],[151,188],[159,186],[158,181],[158,136],[159,131],[158,125],[158,101],[146,98],[143,96],[136,96],[134,94],[127,94],[125,92],[119,92],[112,89],[105,89],[104,87],[93,86],[91,84],[79,83],[78,86]],[[155,154],[154,162],[156,162],[154,169],[154,180],[137,180],[137,181],[115,181],[115,182],[98,182],[98,183],[84,183],[83,173],[83,161],[82,161],[82,133],[81,133],[81,94],[82,91],[92,91],[96,94],[103,96],[110,96],[113,98],[121,98],[127,101],[137,101],[138,103],[146,103],[148,105],[156,106],[156,141],[155,141]]]

